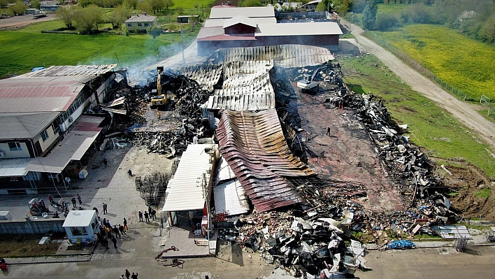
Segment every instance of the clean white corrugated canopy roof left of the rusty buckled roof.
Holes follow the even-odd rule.
[[[163,211],[203,209],[206,197],[203,192],[203,174],[210,181],[208,169],[212,167],[205,148],[217,148],[214,144],[189,144],[182,153],[179,165],[168,183]],[[208,185],[206,185],[208,187]]]

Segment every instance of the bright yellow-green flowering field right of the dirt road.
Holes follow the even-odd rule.
[[[433,24],[413,24],[371,34],[402,50],[473,101],[479,101],[481,95],[495,100],[495,46]]]

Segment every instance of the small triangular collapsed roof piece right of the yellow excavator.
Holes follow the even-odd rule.
[[[222,66],[213,64],[196,64],[185,66],[182,70],[184,76],[196,80],[203,90],[213,91],[213,86],[218,83],[222,76]]]

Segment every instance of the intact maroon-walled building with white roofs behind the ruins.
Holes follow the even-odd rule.
[[[338,49],[337,22],[277,23],[273,7],[212,8],[196,37],[198,55],[218,48],[303,44]]]

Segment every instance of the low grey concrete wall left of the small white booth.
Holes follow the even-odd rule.
[[[47,218],[24,221],[0,221],[1,234],[45,234],[48,231],[65,232],[63,219]]]

